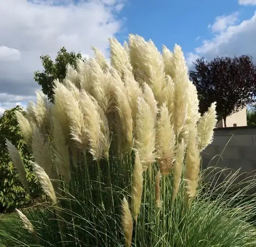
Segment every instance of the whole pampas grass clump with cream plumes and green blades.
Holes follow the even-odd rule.
[[[110,54],[111,66],[95,50],[55,81],[54,103],[38,93],[27,118],[18,114],[49,201],[2,222],[5,245],[254,246],[251,183],[229,198],[231,179],[201,183],[215,104],[200,117],[181,48],[161,55],[131,35],[124,46],[110,39]]]

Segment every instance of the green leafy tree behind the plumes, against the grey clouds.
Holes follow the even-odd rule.
[[[64,80],[66,76],[66,66],[70,64],[74,69],[76,69],[77,59],[82,59],[81,52],[75,53],[67,52],[65,47],[62,47],[60,51],[57,52],[57,57],[55,62],[52,61],[49,55],[40,56],[43,71],[36,71],[34,73],[34,80],[42,87],[42,91],[48,98],[53,101],[53,81],[59,79],[60,81]]]

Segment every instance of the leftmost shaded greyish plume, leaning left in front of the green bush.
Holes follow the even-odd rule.
[[[19,179],[24,184],[24,187],[27,189],[27,192],[30,195],[30,189],[26,178],[26,171],[24,169],[19,151],[16,149],[14,145],[12,145],[12,143],[8,139],[5,140],[5,144],[7,146],[10,159],[12,160],[14,167],[17,169],[19,173]]]

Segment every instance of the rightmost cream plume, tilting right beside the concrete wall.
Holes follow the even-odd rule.
[[[203,114],[198,122],[198,147],[199,151],[204,150],[213,140],[213,129],[217,123],[216,102],[212,103],[208,111]]]

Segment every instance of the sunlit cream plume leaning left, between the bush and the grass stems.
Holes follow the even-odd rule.
[[[33,161],[30,161],[30,163],[33,167],[33,171],[36,174],[38,181],[40,182],[45,194],[50,197],[50,199],[52,200],[52,203],[54,203],[54,204],[57,203],[55,191],[53,189],[50,178],[46,174],[45,170]]]

